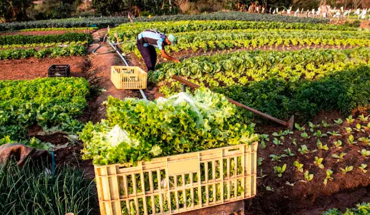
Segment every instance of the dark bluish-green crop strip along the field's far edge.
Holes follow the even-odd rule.
[[[242,21],[275,21],[275,22],[306,22],[306,23],[327,23],[329,20],[314,18],[297,18],[270,14],[249,14],[239,12],[212,13],[202,15],[168,15],[158,17],[138,17],[136,22],[152,21],[178,21],[178,20],[242,20]],[[61,20],[39,20],[29,22],[0,23],[0,31],[14,31],[28,28],[71,28],[71,27],[97,27],[114,26],[129,22],[126,17],[89,17],[71,18]]]

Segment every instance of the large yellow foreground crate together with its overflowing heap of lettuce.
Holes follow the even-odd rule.
[[[221,94],[105,105],[107,119],[80,135],[102,215],[176,214],[256,194],[257,135]]]

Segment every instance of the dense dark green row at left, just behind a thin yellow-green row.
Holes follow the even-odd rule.
[[[0,45],[14,45],[14,44],[35,44],[35,43],[51,43],[51,42],[78,42],[87,41],[88,44],[92,42],[91,34],[85,33],[71,33],[65,34],[51,34],[51,35],[3,35],[0,36]]]

